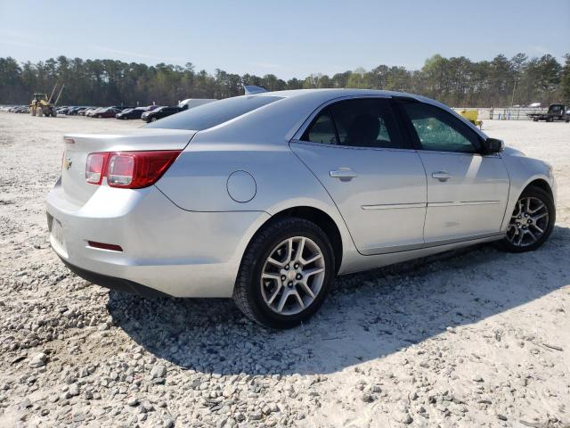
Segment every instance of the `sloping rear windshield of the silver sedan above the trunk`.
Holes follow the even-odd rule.
[[[281,100],[280,96],[236,96],[194,107],[176,113],[165,119],[152,122],[144,128],[192,129],[201,131],[216,127],[237,118],[248,111],[254,111],[269,103]]]

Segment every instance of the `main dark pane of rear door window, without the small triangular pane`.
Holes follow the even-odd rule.
[[[369,98],[341,101],[330,106],[338,131],[339,144],[357,147],[402,149],[391,103]]]

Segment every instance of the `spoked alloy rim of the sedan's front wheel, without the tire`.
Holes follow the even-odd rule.
[[[518,200],[510,218],[507,239],[517,247],[526,247],[542,238],[549,226],[549,209],[539,198]]]

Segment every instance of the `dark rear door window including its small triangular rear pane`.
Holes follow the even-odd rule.
[[[314,119],[301,139],[353,147],[409,148],[400,136],[391,103],[384,98],[334,103]]]

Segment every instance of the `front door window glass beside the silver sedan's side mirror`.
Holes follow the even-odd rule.
[[[402,103],[423,150],[437,152],[476,152],[479,139],[460,119],[436,106]]]

